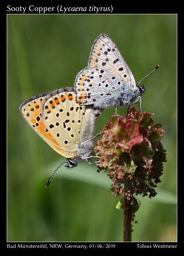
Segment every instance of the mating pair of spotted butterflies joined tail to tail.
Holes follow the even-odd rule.
[[[130,106],[139,98],[141,103],[143,92],[144,87],[136,86],[113,40],[101,34],[92,46],[88,66],[77,74],[74,88],[32,97],[21,104],[20,110],[29,126],[67,158],[62,164],[68,163],[67,167],[71,168],[86,159],[89,164],[98,165],[98,161],[89,161],[96,157],[91,155],[96,116],[109,106],[115,105],[117,112],[117,106]]]

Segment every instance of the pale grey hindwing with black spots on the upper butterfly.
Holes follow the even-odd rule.
[[[117,97],[126,89],[125,82],[106,69],[86,68],[76,77],[76,100],[83,105],[100,107],[101,102],[108,105],[113,97]]]

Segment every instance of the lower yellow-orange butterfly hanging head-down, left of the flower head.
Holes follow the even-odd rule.
[[[95,111],[89,106],[79,106],[75,97],[74,88],[65,87],[34,96],[20,106],[25,121],[52,149],[67,158],[62,164],[67,162],[69,168],[84,159],[92,164],[89,159],[96,157],[91,155],[92,139],[96,137],[93,136]],[[98,165],[97,162],[94,164]]]

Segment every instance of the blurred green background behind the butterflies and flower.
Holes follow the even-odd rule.
[[[155,198],[138,197],[132,241],[176,241],[177,230],[177,16],[176,15],[7,15],[7,240],[122,241],[120,197],[96,166],[62,166],[46,189],[46,180],[65,160],[24,121],[19,105],[28,98],[74,86],[87,66],[101,33],[116,43],[136,83],[143,82],[142,111],[163,124],[167,150],[162,182]],[[138,108],[138,104],[135,105]],[[118,113],[125,115],[126,107]],[[96,133],[114,108],[98,117]]]

